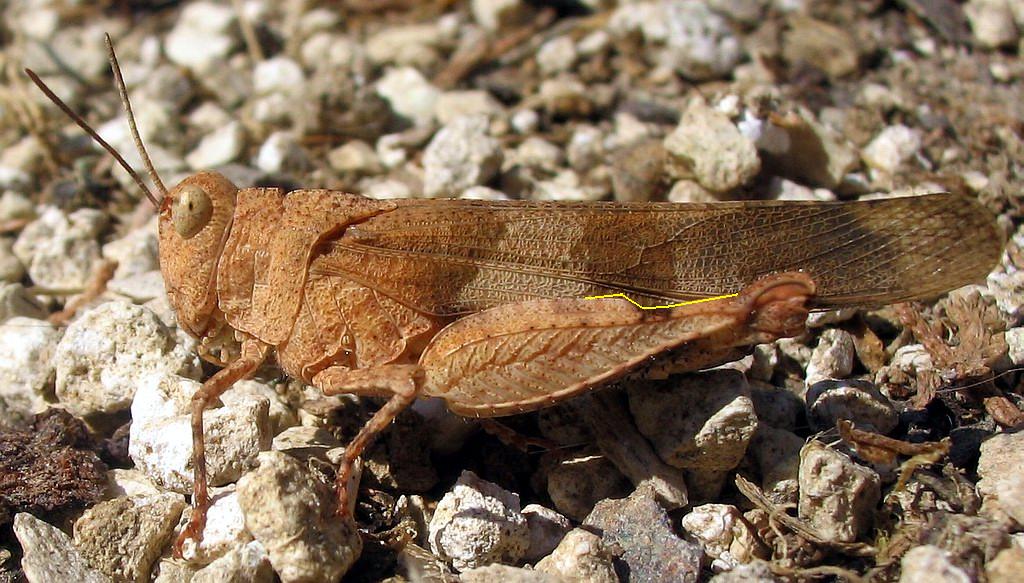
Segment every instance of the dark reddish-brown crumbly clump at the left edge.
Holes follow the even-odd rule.
[[[62,409],[40,413],[28,430],[0,429],[2,523],[98,502],[105,471],[85,424]]]

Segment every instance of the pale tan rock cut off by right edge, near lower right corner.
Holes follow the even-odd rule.
[[[995,518],[1009,515],[1024,525],[1024,433],[997,433],[981,444],[978,458],[978,494],[982,513]]]

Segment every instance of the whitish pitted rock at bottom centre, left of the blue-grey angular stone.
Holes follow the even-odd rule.
[[[463,471],[430,519],[434,554],[459,571],[492,563],[515,564],[529,548],[519,496]]]

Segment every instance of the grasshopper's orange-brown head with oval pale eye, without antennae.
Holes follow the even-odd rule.
[[[160,205],[160,270],[178,325],[197,338],[219,329],[217,264],[239,190],[216,172],[181,180]]]

